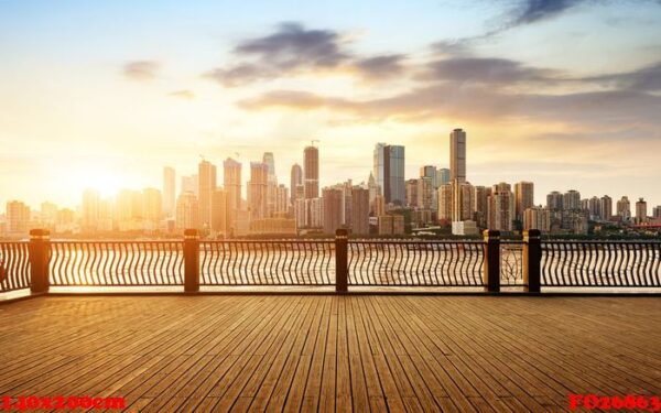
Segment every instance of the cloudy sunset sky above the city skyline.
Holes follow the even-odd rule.
[[[454,128],[474,185],[661,205],[661,1],[0,0],[0,205],[264,151],[289,186],[313,140],[322,186],[377,142],[413,178]]]

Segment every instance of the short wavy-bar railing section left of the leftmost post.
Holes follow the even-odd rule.
[[[29,287],[28,242],[0,242],[0,292]]]

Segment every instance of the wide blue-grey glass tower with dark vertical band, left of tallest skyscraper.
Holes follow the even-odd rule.
[[[373,175],[387,204],[404,205],[405,151],[401,145],[377,143],[373,152]]]

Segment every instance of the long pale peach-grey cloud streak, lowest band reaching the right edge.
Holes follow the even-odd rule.
[[[316,94],[278,90],[240,104],[243,109],[272,107],[293,110],[330,110],[356,120],[379,122],[460,121],[500,122],[525,120],[561,122],[581,128],[661,127],[661,97],[635,90],[608,90],[564,95],[506,93],[488,86],[452,83],[422,86],[388,98],[350,100]]]

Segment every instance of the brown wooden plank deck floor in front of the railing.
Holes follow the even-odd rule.
[[[661,395],[661,300],[47,296],[0,306],[0,395],[129,411],[566,411]]]

